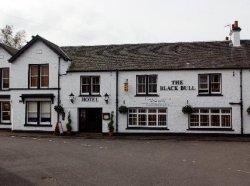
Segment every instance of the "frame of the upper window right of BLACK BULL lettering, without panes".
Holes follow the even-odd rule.
[[[212,77],[218,75],[220,77],[220,91],[219,92],[213,92],[212,91]],[[207,76],[207,92],[202,92],[202,89],[200,88],[201,82],[200,82],[200,77],[201,76]],[[198,74],[198,95],[200,96],[218,96],[222,95],[222,74],[221,73],[207,73],[207,74]]]

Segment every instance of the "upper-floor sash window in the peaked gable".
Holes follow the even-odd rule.
[[[29,73],[30,88],[49,87],[49,65],[30,65]]]

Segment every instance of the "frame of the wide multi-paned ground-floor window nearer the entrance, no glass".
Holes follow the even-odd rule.
[[[159,112],[159,110],[164,109],[166,112]],[[130,112],[130,110],[136,110],[135,112]],[[145,110],[145,112],[140,112],[140,110]],[[149,112],[149,110],[156,110],[156,112]],[[133,115],[133,117],[130,117],[130,115]],[[136,115],[136,116],[134,116]],[[145,125],[139,125],[140,115],[146,115],[146,123]],[[166,121],[165,125],[159,125],[159,116],[165,116]],[[156,116],[156,125],[150,125],[149,116]],[[136,119],[136,125],[130,124],[130,118]],[[151,122],[152,123],[152,122]],[[128,129],[165,129],[168,130],[168,108],[164,107],[130,107],[128,108],[127,113],[127,128]]]

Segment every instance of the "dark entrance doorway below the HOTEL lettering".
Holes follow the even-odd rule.
[[[79,132],[102,132],[102,109],[79,109]]]

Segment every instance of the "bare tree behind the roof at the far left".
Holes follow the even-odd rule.
[[[0,42],[17,49],[23,46],[25,37],[24,30],[14,33],[13,26],[11,25],[6,25],[4,28],[0,29]]]

